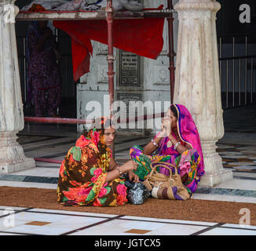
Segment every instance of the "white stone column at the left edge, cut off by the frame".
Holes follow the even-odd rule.
[[[0,0],[0,173],[35,167],[17,143],[16,133],[24,129],[20,74],[16,49],[15,0]]]

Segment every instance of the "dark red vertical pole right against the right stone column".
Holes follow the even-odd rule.
[[[173,2],[172,0],[168,0],[167,2],[167,9],[174,9],[173,8]],[[169,41],[169,62],[170,62],[170,101],[173,103],[174,101],[174,56],[176,56],[176,53],[174,53],[174,17],[173,13],[170,12],[170,17],[167,17],[168,22],[168,41]]]

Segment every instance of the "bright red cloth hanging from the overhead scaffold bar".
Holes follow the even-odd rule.
[[[159,6],[159,8],[162,6]],[[162,9],[161,8],[161,9]],[[113,46],[139,56],[156,59],[163,49],[164,18],[113,20]],[[77,81],[90,71],[91,40],[108,45],[106,20],[53,21],[71,36],[73,74]]]

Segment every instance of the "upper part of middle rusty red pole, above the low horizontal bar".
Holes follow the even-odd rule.
[[[112,0],[107,1],[107,24],[108,24],[108,93],[109,93],[109,104],[110,104],[110,116],[112,117],[112,104],[114,102],[114,61],[115,56],[113,55],[113,6]]]

